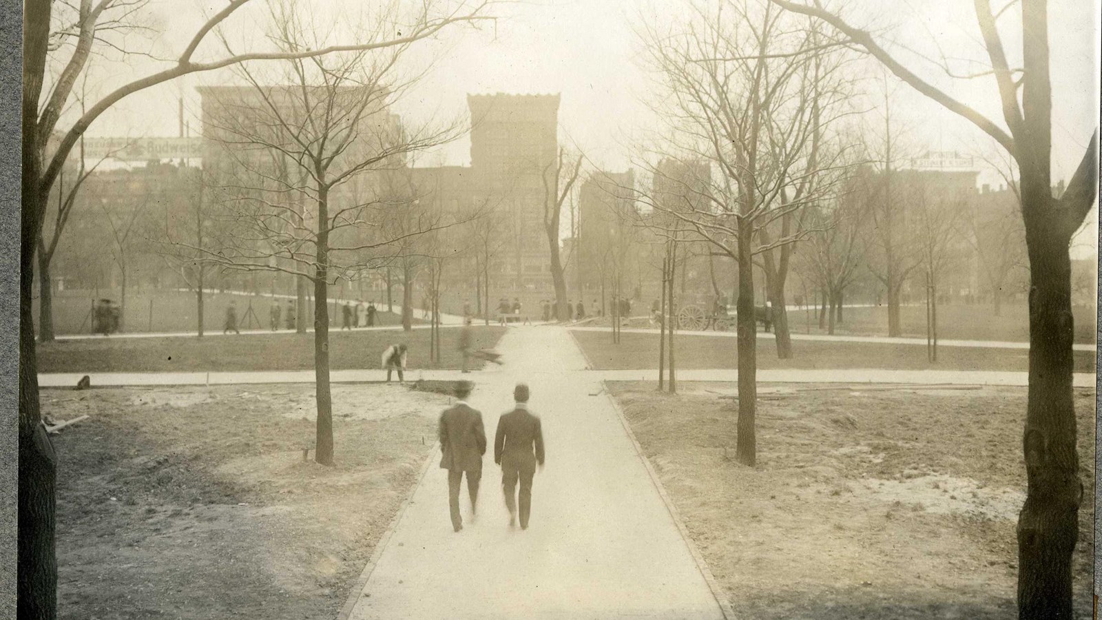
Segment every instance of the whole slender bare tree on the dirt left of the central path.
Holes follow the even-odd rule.
[[[391,21],[381,20],[365,38],[380,39]],[[276,23],[273,36],[288,52],[324,44],[296,12],[277,14]],[[267,86],[242,67],[250,87],[206,92],[212,126],[204,130],[220,142],[215,165],[224,163],[228,182],[220,188],[223,237],[201,248],[203,260],[230,270],[288,272],[312,285],[315,460],[322,464],[333,464],[328,287],[382,265],[397,245],[433,229],[376,234],[383,194],[369,182],[352,192],[350,181],[404,168],[410,153],[458,135],[454,125],[410,130],[389,113],[403,87],[395,67],[408,49],[289,61],[285,71],[266,76],[287,86]],[[288,173],[281,173],[283,162],[292,169]]]

